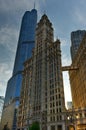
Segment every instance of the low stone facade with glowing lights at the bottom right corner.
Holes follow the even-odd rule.
[[[86,108],[67,110],[65,122],[66,130],[86,130]]]

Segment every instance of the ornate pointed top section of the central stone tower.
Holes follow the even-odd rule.
[[[48,40],[49,42],[53,42],[53,27],[52,23],[48,19],[47,15],[44,14],[36,27],[36,41],[40,38],[40,42],[44,40]],[[38,42],[36,42],[38,44]]]

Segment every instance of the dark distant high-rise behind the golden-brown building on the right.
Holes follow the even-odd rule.
[[[85,35],[85,30],[77,30],[71,33],[71,58],[72,60],[75,57],[75,54],[78,50],[78,47]]]

